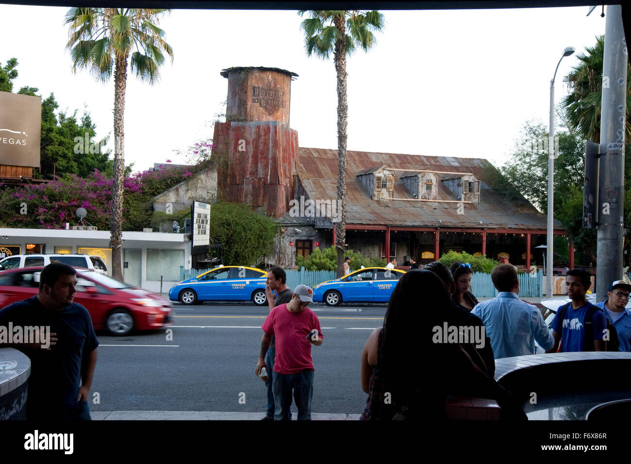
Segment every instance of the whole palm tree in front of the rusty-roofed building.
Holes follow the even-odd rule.
[[[310,17],[302,21],[307,56],[315,54],[328,59],[333,52],[333,62],[338,76],[338,208],[336,223],[336,249],[338,251],[338,277],[344,273],[346,251],[346,55],[361,47],[368,51],[376,43],[373,31],[384,27],[384,15],[377,10],[300,10],[302,17],[309,11]]]

